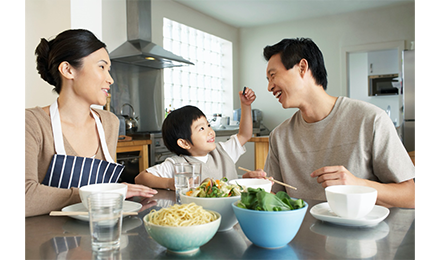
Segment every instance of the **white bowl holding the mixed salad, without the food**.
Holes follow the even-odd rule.
[[[237,218],[234,211],[232,211],[232,203],[236,202],[241,196],[222,197],[222,198],[199,198],[187,196],[188,189],[184,189],[180,193],[180,199],[182,204],[189,204],[194,202],[195,204],[202,206],[206,210],[212,210],[222,215],[222,220],[219,232],[230,230],[235,224],[237,224]]]

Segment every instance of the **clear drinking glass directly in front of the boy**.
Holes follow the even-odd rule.
[[[180,192],[182,190],[200,185],[201,170],[202,165],[200,163],[174,164],[174,186],[176,188],[177,204],[181,204]]]

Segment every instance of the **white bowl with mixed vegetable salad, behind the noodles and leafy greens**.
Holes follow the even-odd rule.
[[[232,203],[240,199],[241,192],[246,187],[228,184],[227,179],[207,179],[199,187],[183,189],[180,193],[182,203],[195,203],[204,209],[213,210],[222,215],[218,232],[232,229],[238,223]]]

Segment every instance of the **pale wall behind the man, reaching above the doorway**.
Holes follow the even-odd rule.
[[[253,88],[253,107],[263,111],[264,124],[272,129],[296,109],[283,109],[267,91],[263,48],[283,38],[309,37],[321,49],[328,73],[327,92],[346,96],[342,87],[341,49],[368,43],[415,40],[415,4],[339,14],[240,29],[240,85]]]

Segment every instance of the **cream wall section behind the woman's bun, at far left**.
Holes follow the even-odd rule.
[[[41,38],[51,39],[70,28],[70,0],[25,1],[25,108],[47,106],[55,101],[58,94],[53,86],[40,78],[36,69],[35,48]]]

